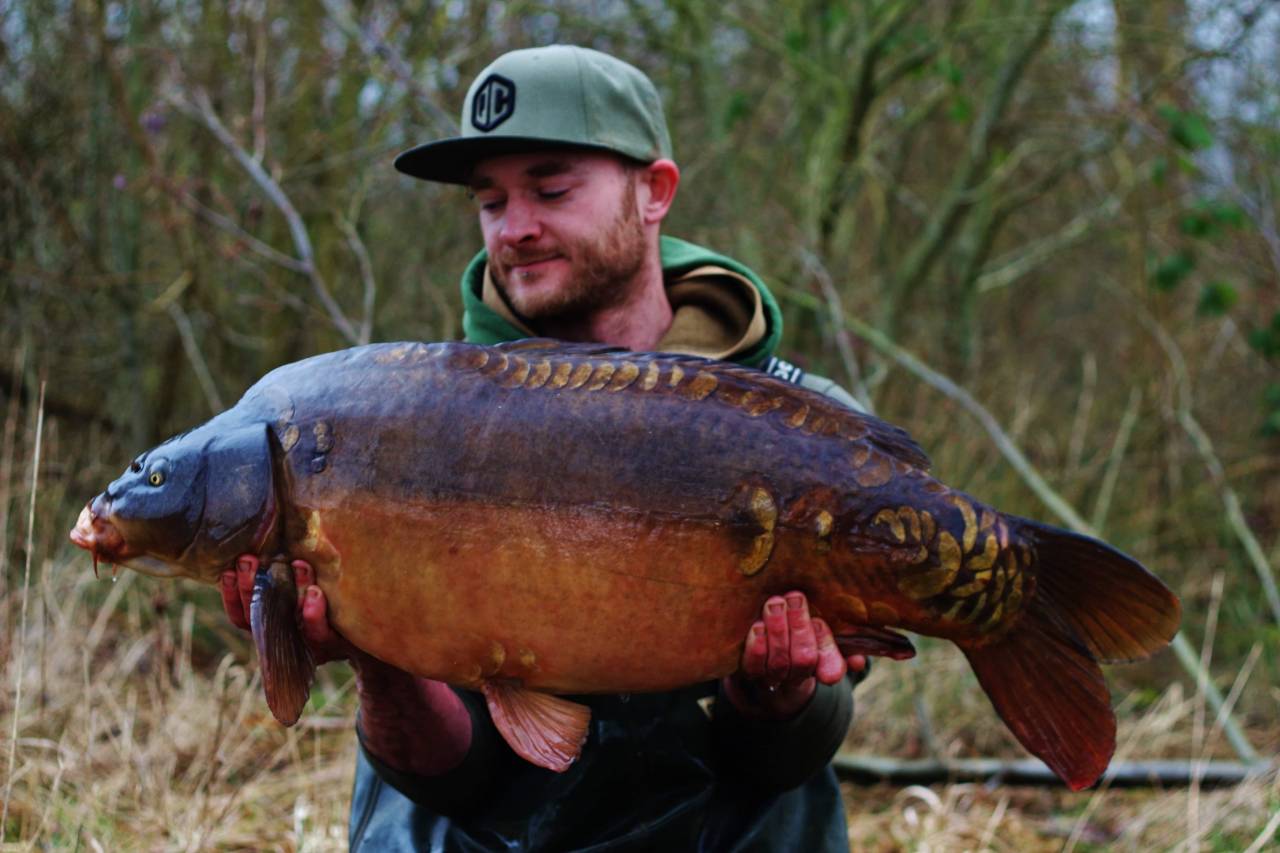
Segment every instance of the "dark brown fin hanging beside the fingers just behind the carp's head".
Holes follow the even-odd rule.
[[[283,560],[257,570],[248,621],[257,646],[266,706],[292,726],[311,695],[316,666],[298,628],[298,593],[293,570]]]

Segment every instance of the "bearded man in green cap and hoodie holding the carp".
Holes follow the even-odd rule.
[[[754,273],[659,237],[680,172],[644,74],[580,47],[515,51],[480,73],[462,119],[462,136],[396,165],[465,184],[476,201],[485,250],[462,280],[468,341],[536,334],[800,377],[772,359],[781,314]],[[241,626],[256,567],[243,557],[223,579]],[[590,734],[579,761],[553,774],[515,756],[475,694],[347,644],[310,567],[294,571],[317,660],[356,670],[352,849],[847,848],[828,761],[852,715],[846,667],[861,672],[865,661],[846,662],[804,594],[765,602],[741,670],[719,684],[575,697],[591,708]]]

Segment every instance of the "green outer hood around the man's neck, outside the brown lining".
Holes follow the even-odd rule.
[[[773,293],[765,287],[760,277],[737,263],[732,257],[726,257],[709,248],[703,248],[694,243],[676,240],[675,237],[660,238],[662,272],[667,282],[672,282],[686,273],[701,266],[721,266],[732,273],[737,273],[748,279],[760,296],[764,311],[765,332],[764,337],[742,352],[735,352],[730,360],[753,368],[760,368],[778,346],[782,338],[782,310],[778,307]],[[471,343],[502,343],[503,341],[517,341],[529,337],[527,332],[515,327],[485,305],[484,270],[489,256],[480,251],[462,273],[462,330]]]

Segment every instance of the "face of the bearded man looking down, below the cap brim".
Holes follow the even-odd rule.
[[[494,283],[530,320],[617,305],[644,265],[636,178],[614,156],[492,158],[476,165],[471,192]]]

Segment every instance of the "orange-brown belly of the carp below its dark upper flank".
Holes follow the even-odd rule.
[[[727,675],[778,575],[714,524],[600,508],[346,503],[310,551],[335,628],[460,685],[663,690]]]

